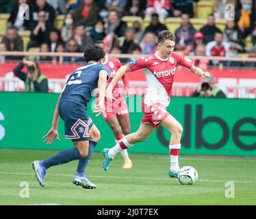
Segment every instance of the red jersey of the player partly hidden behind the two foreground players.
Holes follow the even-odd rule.
[[[122,64],[120,63],[120,61],[118,59],[116,59],[115,57],[110,57],[105,55],[105,60],[103,62],[103,64],[105,66],[107,66],[107,68],[110,69],[111,75],[110,75],[110,79],[107,81],[107,86],[110,84],[110,82],[112,81],[113,77],[116,75],[117,70],[122,66]],[[123,83],[125,85],[125,88],[129,88],[129,79],[127,77],[127,75],[124,75],[122,77]],[[116,83],[116,85],[113,88],[113,96],[120,96],[120,92],[118,91],[118,83]]]

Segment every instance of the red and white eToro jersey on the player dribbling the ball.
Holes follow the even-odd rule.
[[[144,103],[147,105],[160,103],[167,107],[170,103],[170,91],[178,65],[192,69],[194,62],[178,53],[171,53],[170,57],[166,59],[160,58],[155,53],[129,62],[127,68],[130,71],[146,68],[145,75],[148,90],[144,96]]]

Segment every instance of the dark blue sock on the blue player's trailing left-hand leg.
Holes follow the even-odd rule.
[[[50,168],[51,166],[58,164],[66,164],[73,161],[74,159],[81,159],[81,154],[77,148],[60,151],[60,153],[57,153],[57,155],[54,155],[48,159],[44,159],[42,165],[45,168]]]

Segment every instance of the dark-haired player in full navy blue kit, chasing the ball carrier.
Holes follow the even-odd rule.
[[[73,141],[74,148],[60,151],[53,157],[32,163],[36,178],[42,187],[45,186],[44,175],[48,168],[79,159],[73,183],[83,188],[97,188],[84,174],[92,157],[92,151],[100,139],[99,129],[92,123],[86,110],[92,98],[92,90],[99,88],[99,103],[94,105],[94,113],[99,116],[103,111],[107,80],[110,78],[110,70],[101,64],[104,57],[103,49],[94,46],[87,47],[84,53],[87,64],[77,68],[71,74],[60,94],[53,114],[52,127],[44,136],[44,142],[51,144],[54,138],[60,141],[57,126],[61,117],[65,125],[65,138]]]

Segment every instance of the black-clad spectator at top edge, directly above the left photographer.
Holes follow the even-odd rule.
[[[29,23],[31,25],[30,29],[38,24],[40,18],[38,17],[41,11],[45,12],[45,21],[49,29],[54,27],[55,21],[55,10],[46,0],[36,0],[36,3],[31,4],[31,9],[29,8]]]

